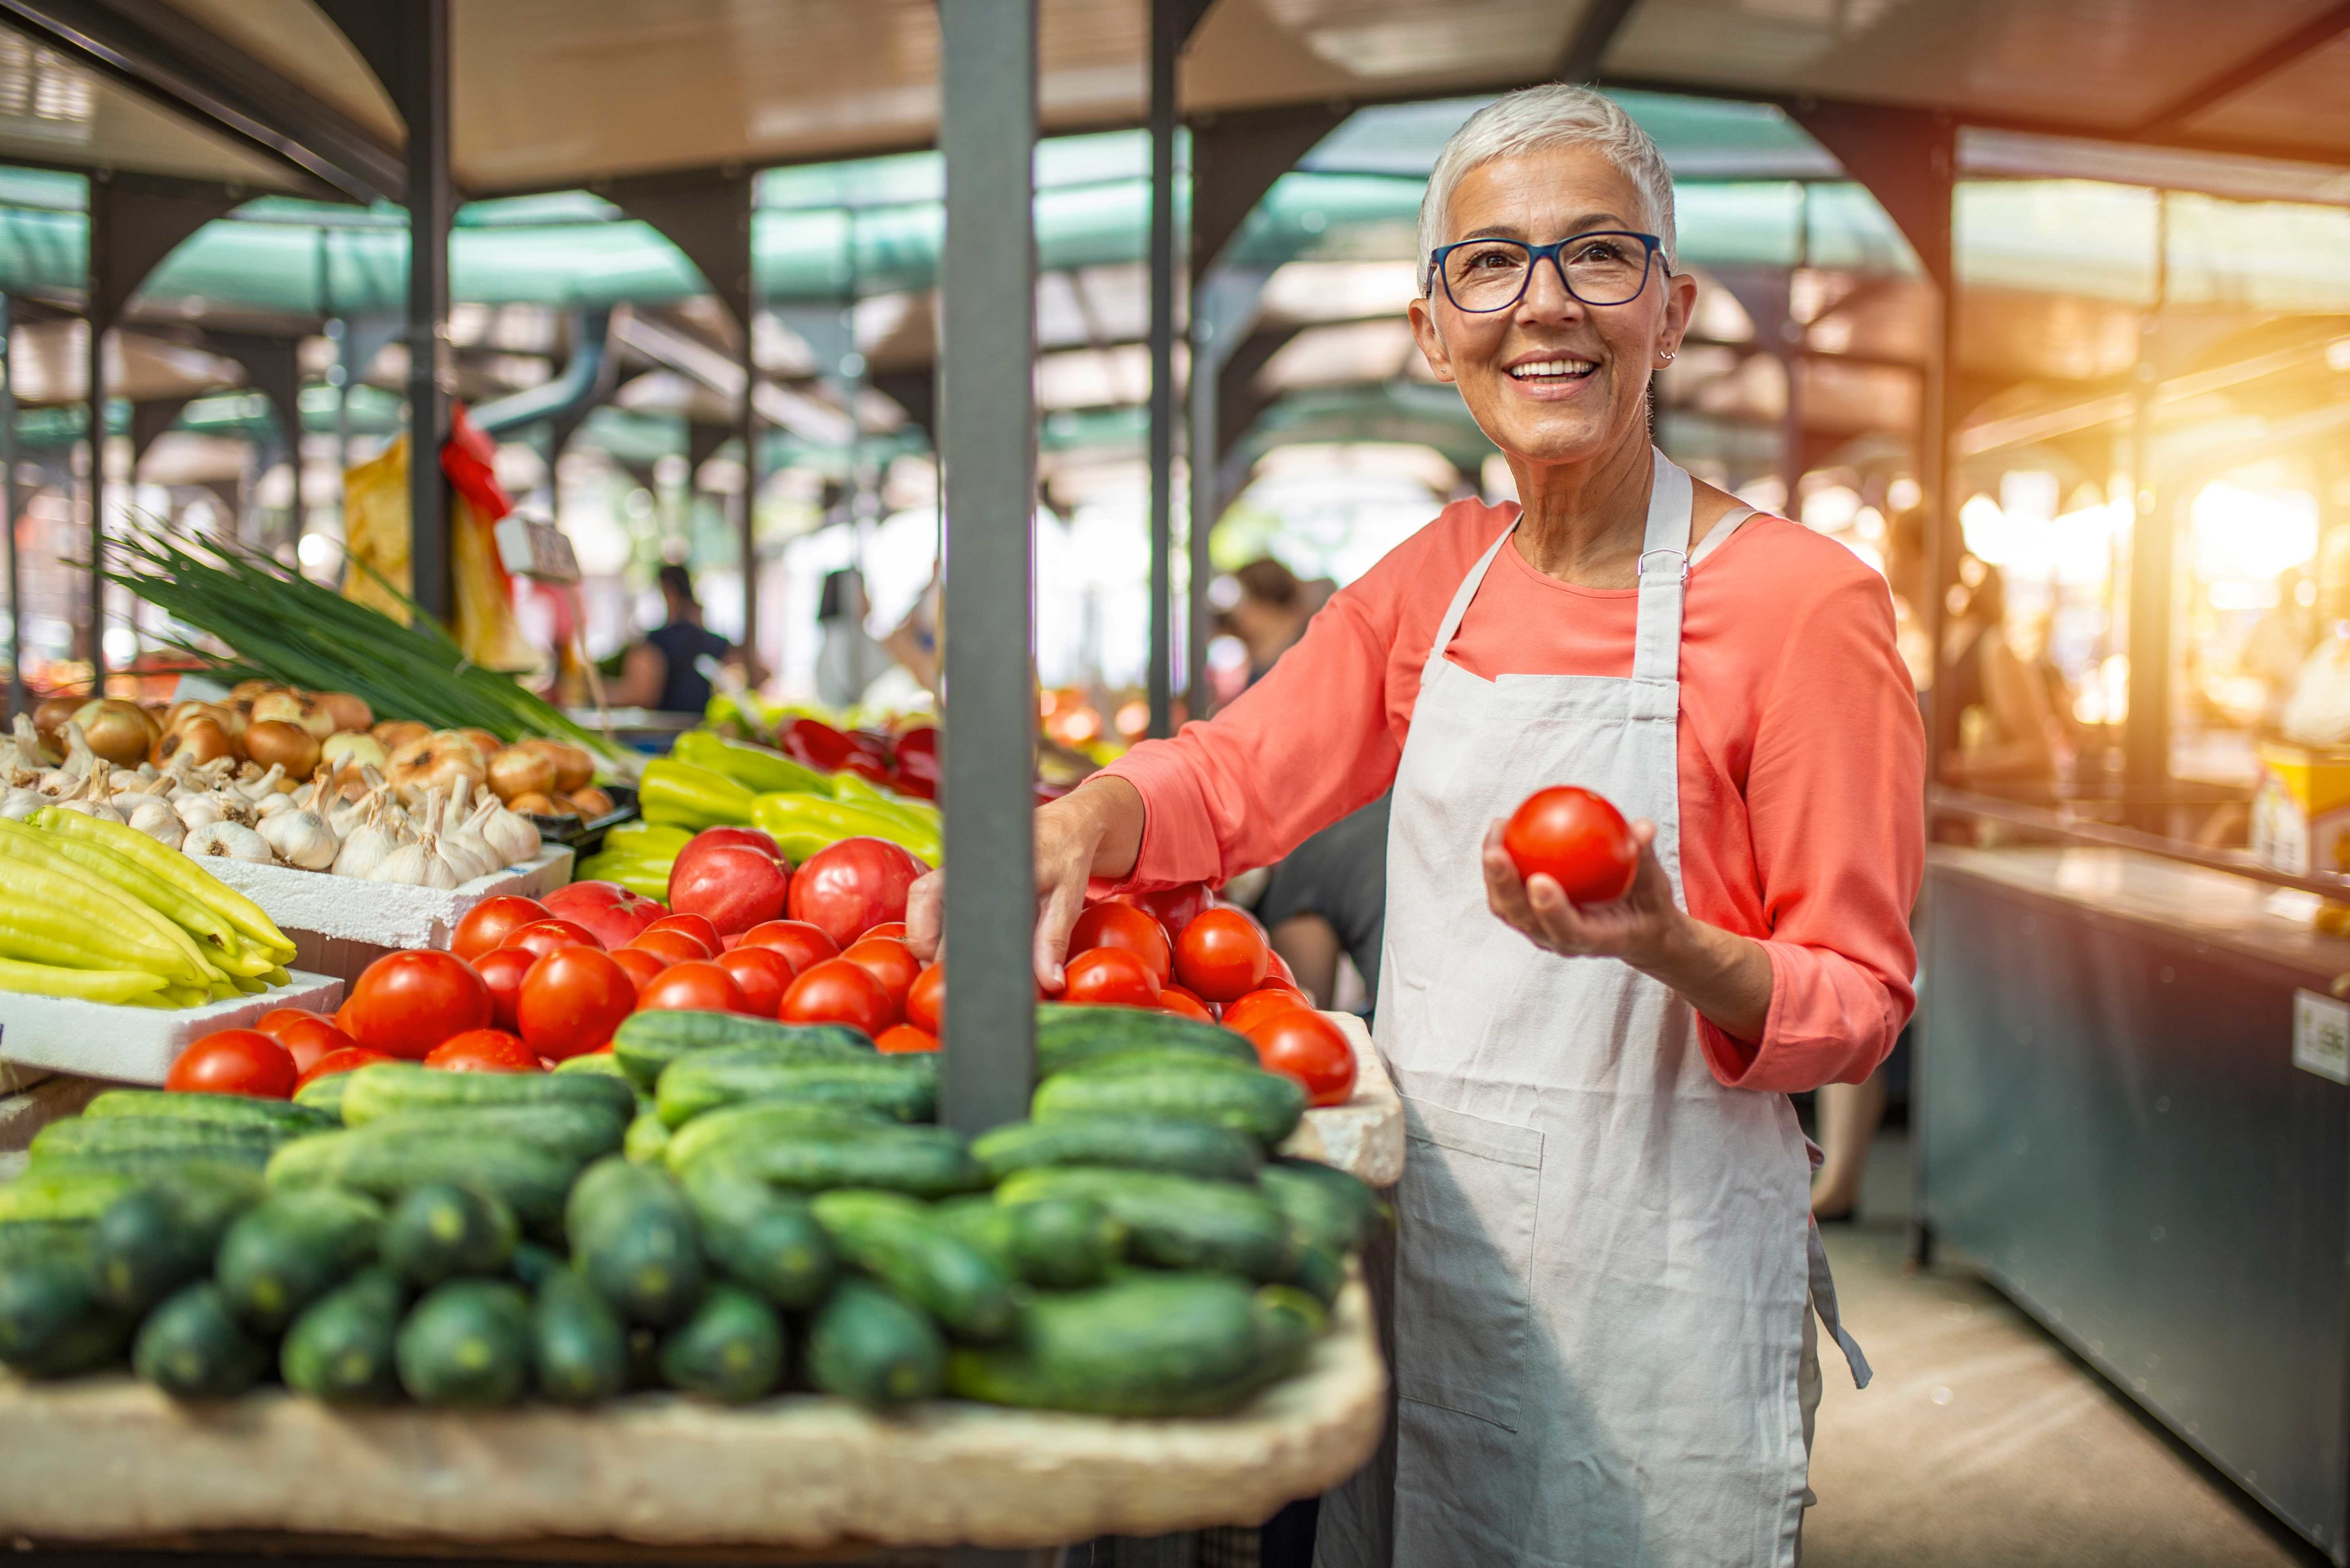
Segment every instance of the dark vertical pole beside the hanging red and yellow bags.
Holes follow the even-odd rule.
[[[435,620],[456,613],[449,577],[449,0],[409,0],[402,110],[409,122],[409,570]]]

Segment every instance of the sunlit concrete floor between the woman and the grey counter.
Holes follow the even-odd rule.
[[[2171,1446],[1965,1265],[1904,1275],[1908,1150],[1828,1228],[1845,1324],[1819,1406],[1805,1568],[2301,1568],[2324,1556]]]

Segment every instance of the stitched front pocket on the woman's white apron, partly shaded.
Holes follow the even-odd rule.
[[[1396,1394],[1518,1430],[1542,1131],[1403,1101]]]

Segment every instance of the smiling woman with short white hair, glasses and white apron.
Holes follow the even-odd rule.
[[[1394,786],[1391,1561],[1791,1563],[1807,1303],[1866,1364],[1786,1096],[1864,1080],[1913,1000],[1922,735],[1892,601],[1652,448],[1697,284],[1614,103],[1480,110],[1419,249],[1412,333],[1523,500],[1455,502],[1213,723],[1041,807],[1039,979],[1088,878],[1215,883]],[[1622,899],[1513,869],[1499,819],[1549,784],[1638,819]],[[1325,1507],[1321,1561],[1389,1561],[1365,1491]]]

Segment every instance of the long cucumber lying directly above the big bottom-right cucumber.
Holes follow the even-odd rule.
[[[1020,1171],[996,1188],[996,1202],[1003,1204],[1043,1197],[1102,1204],[1126,1225],[1128,1253],[1159,1268],[1283,1279],[1292,1263],[1281,1209],[1262,1192],[1229,1181],[1060,1164]]]

